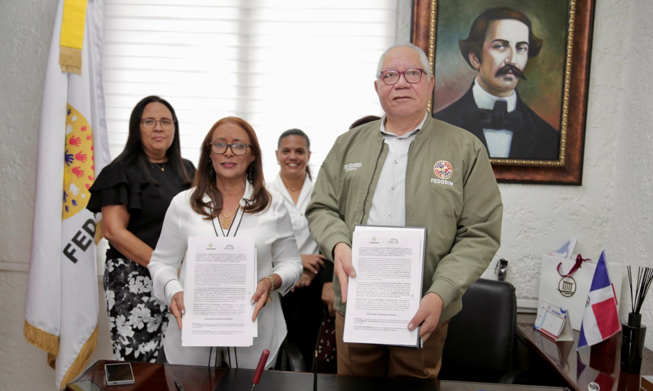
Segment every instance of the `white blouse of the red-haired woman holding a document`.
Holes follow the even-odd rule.
[[[186,190],[172,199],[166,218],[163,220],[161,237],[152,253],[152,259],[147,269],[152,275],[152,293],[154,297],[170,304],[175,293],[184,291],[186,280],[186,263],[183,263],[188,250],[188,237],[213,236],[215,230],[211,220],[203,219],[190,208],[190,195],[195,189]],[[252,187],[249,182],[245,194],[240,201],[241,206],[251,198]],[[210,201],[205,196],[204,201]],[[242,217],[242,220],[241,220]],[[266,367],[276,358],[278,349],[287,334],[286,323],[281,311],[279,293],[285,295],[297,283],[302,273],[301,257],[297,251],[292,223],[287,208],[279,197],[273,195],[267,209],[249,214],[238,210],[234,217],[231,231],[227,233],[220,228],[220,221],[215,222],[219,236],[253,237],[257,251],[257,280],[264,275],[277,273],[282,280],[281,287],[272,293],[272,302],[267,303],[258,314],[258,338],[254,338],[253,346],[211,349],[210,347],[182,347],[181,330],[175,317],[170,314],[163,347],[166,358],[172,364],[213,365],[216,351],[224,356],[225,361],[231,361],[236,367],[235,356],[238,356],[238,367],[256,368],[263,349],[269,349],[270,356]],[[237,224],[238,231],[236,232]],[[179,280],[177,271],[181,268]],[[171,281],[172,280],[172,281]],[[213,353],[211,353],[213,352]],[[227,355],[229,354],[229,358]]]

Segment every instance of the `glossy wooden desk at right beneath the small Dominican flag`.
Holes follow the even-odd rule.
[[[641,374],[629,374],[621,370],[620,332],[605,345],[584,347],[577,353],[578,331],[573,331],[573,342],[556,343],[535,331],[534,323],[535,314],[519,313],[517,337],[542,357],[571,390],[587,391],[587,384],[594,381],[600,385],[600,391],[639,391],[641,375],[653,374],[653,352],[648,349],[644,352]]]

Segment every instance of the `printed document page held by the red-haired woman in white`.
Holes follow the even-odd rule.
[[[252,237],[189,237],[182,346],[251,346]]]

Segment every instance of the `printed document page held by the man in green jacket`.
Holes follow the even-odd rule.
[[[356,226],[343,340],[418,346],[425,228]]]

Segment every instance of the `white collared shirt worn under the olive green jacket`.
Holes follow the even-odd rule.
[[[397,136],[386,131],[386,116],[381,118],[381,134],[388,144],[388,154],[381,167],[379,181],[372,197],[370,226],[405,226],[406,225],[406,167],[408,151],[418,131],[424,126],[429,113],[415,129]]]

